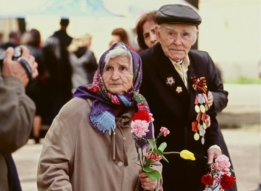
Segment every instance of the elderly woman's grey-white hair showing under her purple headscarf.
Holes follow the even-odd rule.
[[[123,43],[118,43],[112,50],[109,51],[104,59],[104,68],[108,65],[110,59],[115,57],[128,57],[130,60],[130,71],[133,75],[132,56],[130,50]]]

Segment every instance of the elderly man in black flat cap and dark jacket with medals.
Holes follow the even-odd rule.
[[[221,154],[216,113],[209,108],[208,91],[227,94],[208,53],[191,51],[201,17],[189,6],[165,5],[156,13],[158,43],[139,53],[143,81],[140,92],[154,116],[154,128],[167,127],[162,139],[166,152],[189,150],[195,161],[167,155],[163,162],[163,189],[202,191],[201,177]],[[207,111],[207,112],[206,112]],[[206,124],[206,113],[211,124]],[[210,127],[206,129],[206,125]]]

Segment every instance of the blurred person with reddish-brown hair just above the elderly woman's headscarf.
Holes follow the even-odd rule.
[[[133,50],[134,52],[137,52],[134,47],[132,47],[129,43],[129,38],[128,38],[128,34],[126,32],[126,30],[124,30],[123,28],[118,28],[118,29],[114,29],[111,33],[112,35],[112,40],[109,43],[109,47],[111,47],[114,43],[116,42],[123,42],[124,44],[128,45],[130,47],[131,50]]]

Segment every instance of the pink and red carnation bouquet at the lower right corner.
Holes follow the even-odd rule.
[[[234,185],[236,180],[231,176],[230,170],[234,170],[230,165],[229,158],[224,154],[215,159],[210,166],[210,173],[201,178],[201,182],[206,185],[205,191],[224,191]]]

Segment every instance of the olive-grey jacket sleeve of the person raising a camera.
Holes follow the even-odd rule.
[[[34,102],[25,95],[18,78],[0,80],[0,151],[12,153],[23,146],[31,133]]]

